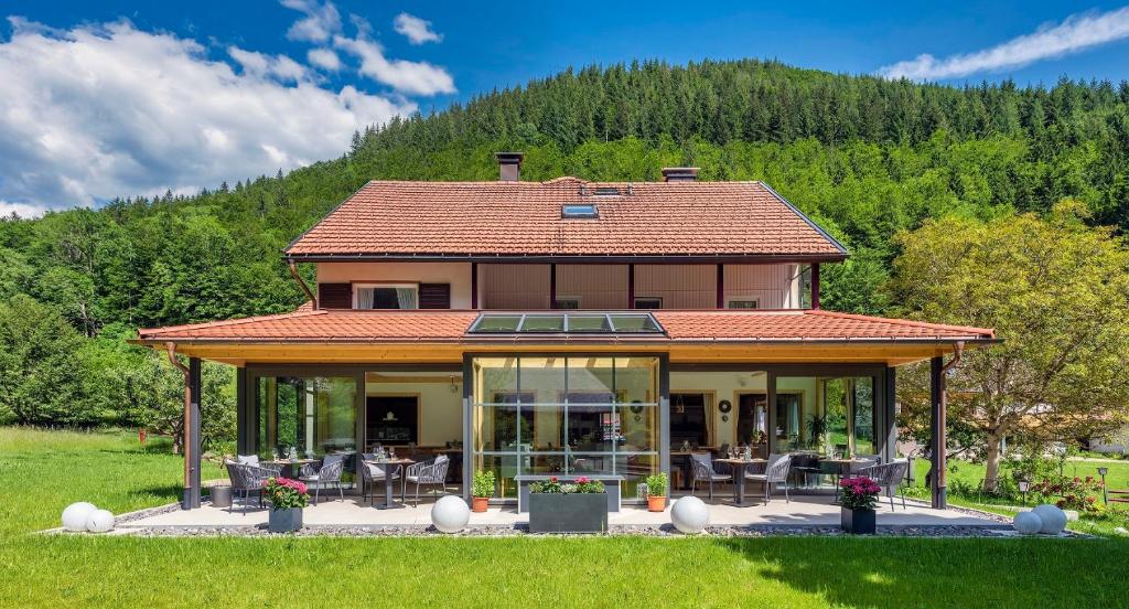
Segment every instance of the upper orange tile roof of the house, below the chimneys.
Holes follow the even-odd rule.
[[[622,194],[593,194],[601,186],[615,186]],[[561,218],[566,203],[595,203],[599,217]],[[840,260],[847,252],[760,182],[629,185],[561,177],[549,182],[373,181],[298,237],[286,253],[294,258]]]

